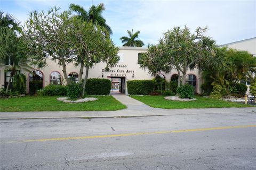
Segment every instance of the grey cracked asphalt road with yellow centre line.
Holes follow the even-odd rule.
[[[1,120],[1,169],[256,169],[256,113]]]

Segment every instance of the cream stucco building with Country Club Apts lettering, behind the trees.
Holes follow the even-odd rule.
[[[246,39],[242,41],[237,41],[234,43],[229,43],[221,46],[227,46],[230,48],[235,48],[238,50],[247,50],[251,54],[256,54],[256,37],[251,39]],[[154,77],[148,73],[148,70],[143,70],[138,65],[138,56],[139,53],[145,53],[147,48],[144,47],[119,47],[118,56],[120,56],[120,61],[110,71],[106,72],[104,70],[106,64],[99,63],[96,64],[92,69],[89,70],[89,78],[106,78],[113,80],[118,79],[121,81],[121,84],[118,86],[121,87],[121,92],[127,95],[126,82],[128,80],[151,80]],[[69,77],[77,79],[79,73],[79,67],[75,67],[73,64],[68,64],[67,73]],[[85,72],[85,70],[84,70]],[[23,72],[27,77],[27,91],[29,92],[29,82],[35,79],[32,74]],[[47,86],[48,84],[54,83],[58,84],[64,82],[62,67],[58,66],[57,63],[54,63],[51,60],[47,60],[47,66],[43,69],[35,69],[34,71],[37,78],[42,80],[42,87]],[[165,80],[170,81],[171,77],[177,74],[176,70],[172,70],[169,74],[160,73]],[[9,80],[10,73],[4,72],[3,68],[0,68],[0,84],[1,86],[6,86],[6,82]],[[189,84],[192,84],[197,93],[201,92],[202,77],[197,69],[187,71],[186,75],[187,81]],[[115,82],[116,83],[116,82]],[[247,82],[245,82],[247,83]]]

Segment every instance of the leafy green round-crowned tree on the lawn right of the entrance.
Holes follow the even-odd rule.
[[[169,64],[182,74],[182,84],[186,83],[187,70],[199,68],[200,63],[215,55],[215,41],[204,36],[207,28],[198,27],[195,33],[191,33],[185,26],[184,29],[174,27],[164,32],[160,40],[164,48],[165,57],[169,58]],[[170,67],[171,67],[170,65]],[[179,84],[180,85],[180,84]]]

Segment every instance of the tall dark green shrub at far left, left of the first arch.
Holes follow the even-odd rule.
[[[24,74],[15,74],[13,77],[13,91],[19,94],[26,94],[26,76]]]

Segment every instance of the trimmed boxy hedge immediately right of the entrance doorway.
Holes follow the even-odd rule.
[[[148,95],[154,90],[153,80],[127,81],[127,90],[130,95]]]

